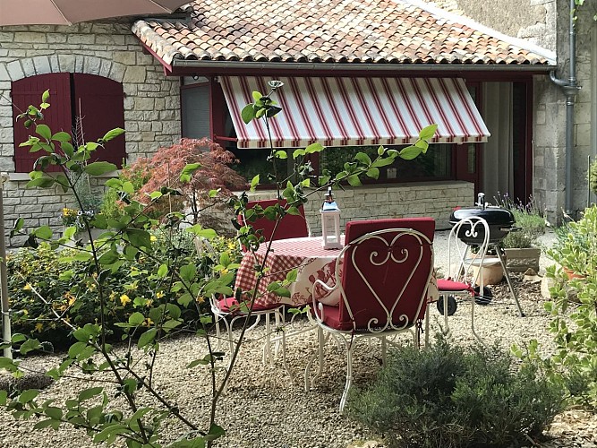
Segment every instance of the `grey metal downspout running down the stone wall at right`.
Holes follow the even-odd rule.
[[[574,148],[575,97],[581,87],[576,82],[576,29],[575,29],[575,0],[570,0],[569,22],[569,54],[567,81],[556,78],[556,73],[550,72],[550,80],[562,89],[566,95],[566,179],[564,208],[568,216],[572,216],[572,151]]]

